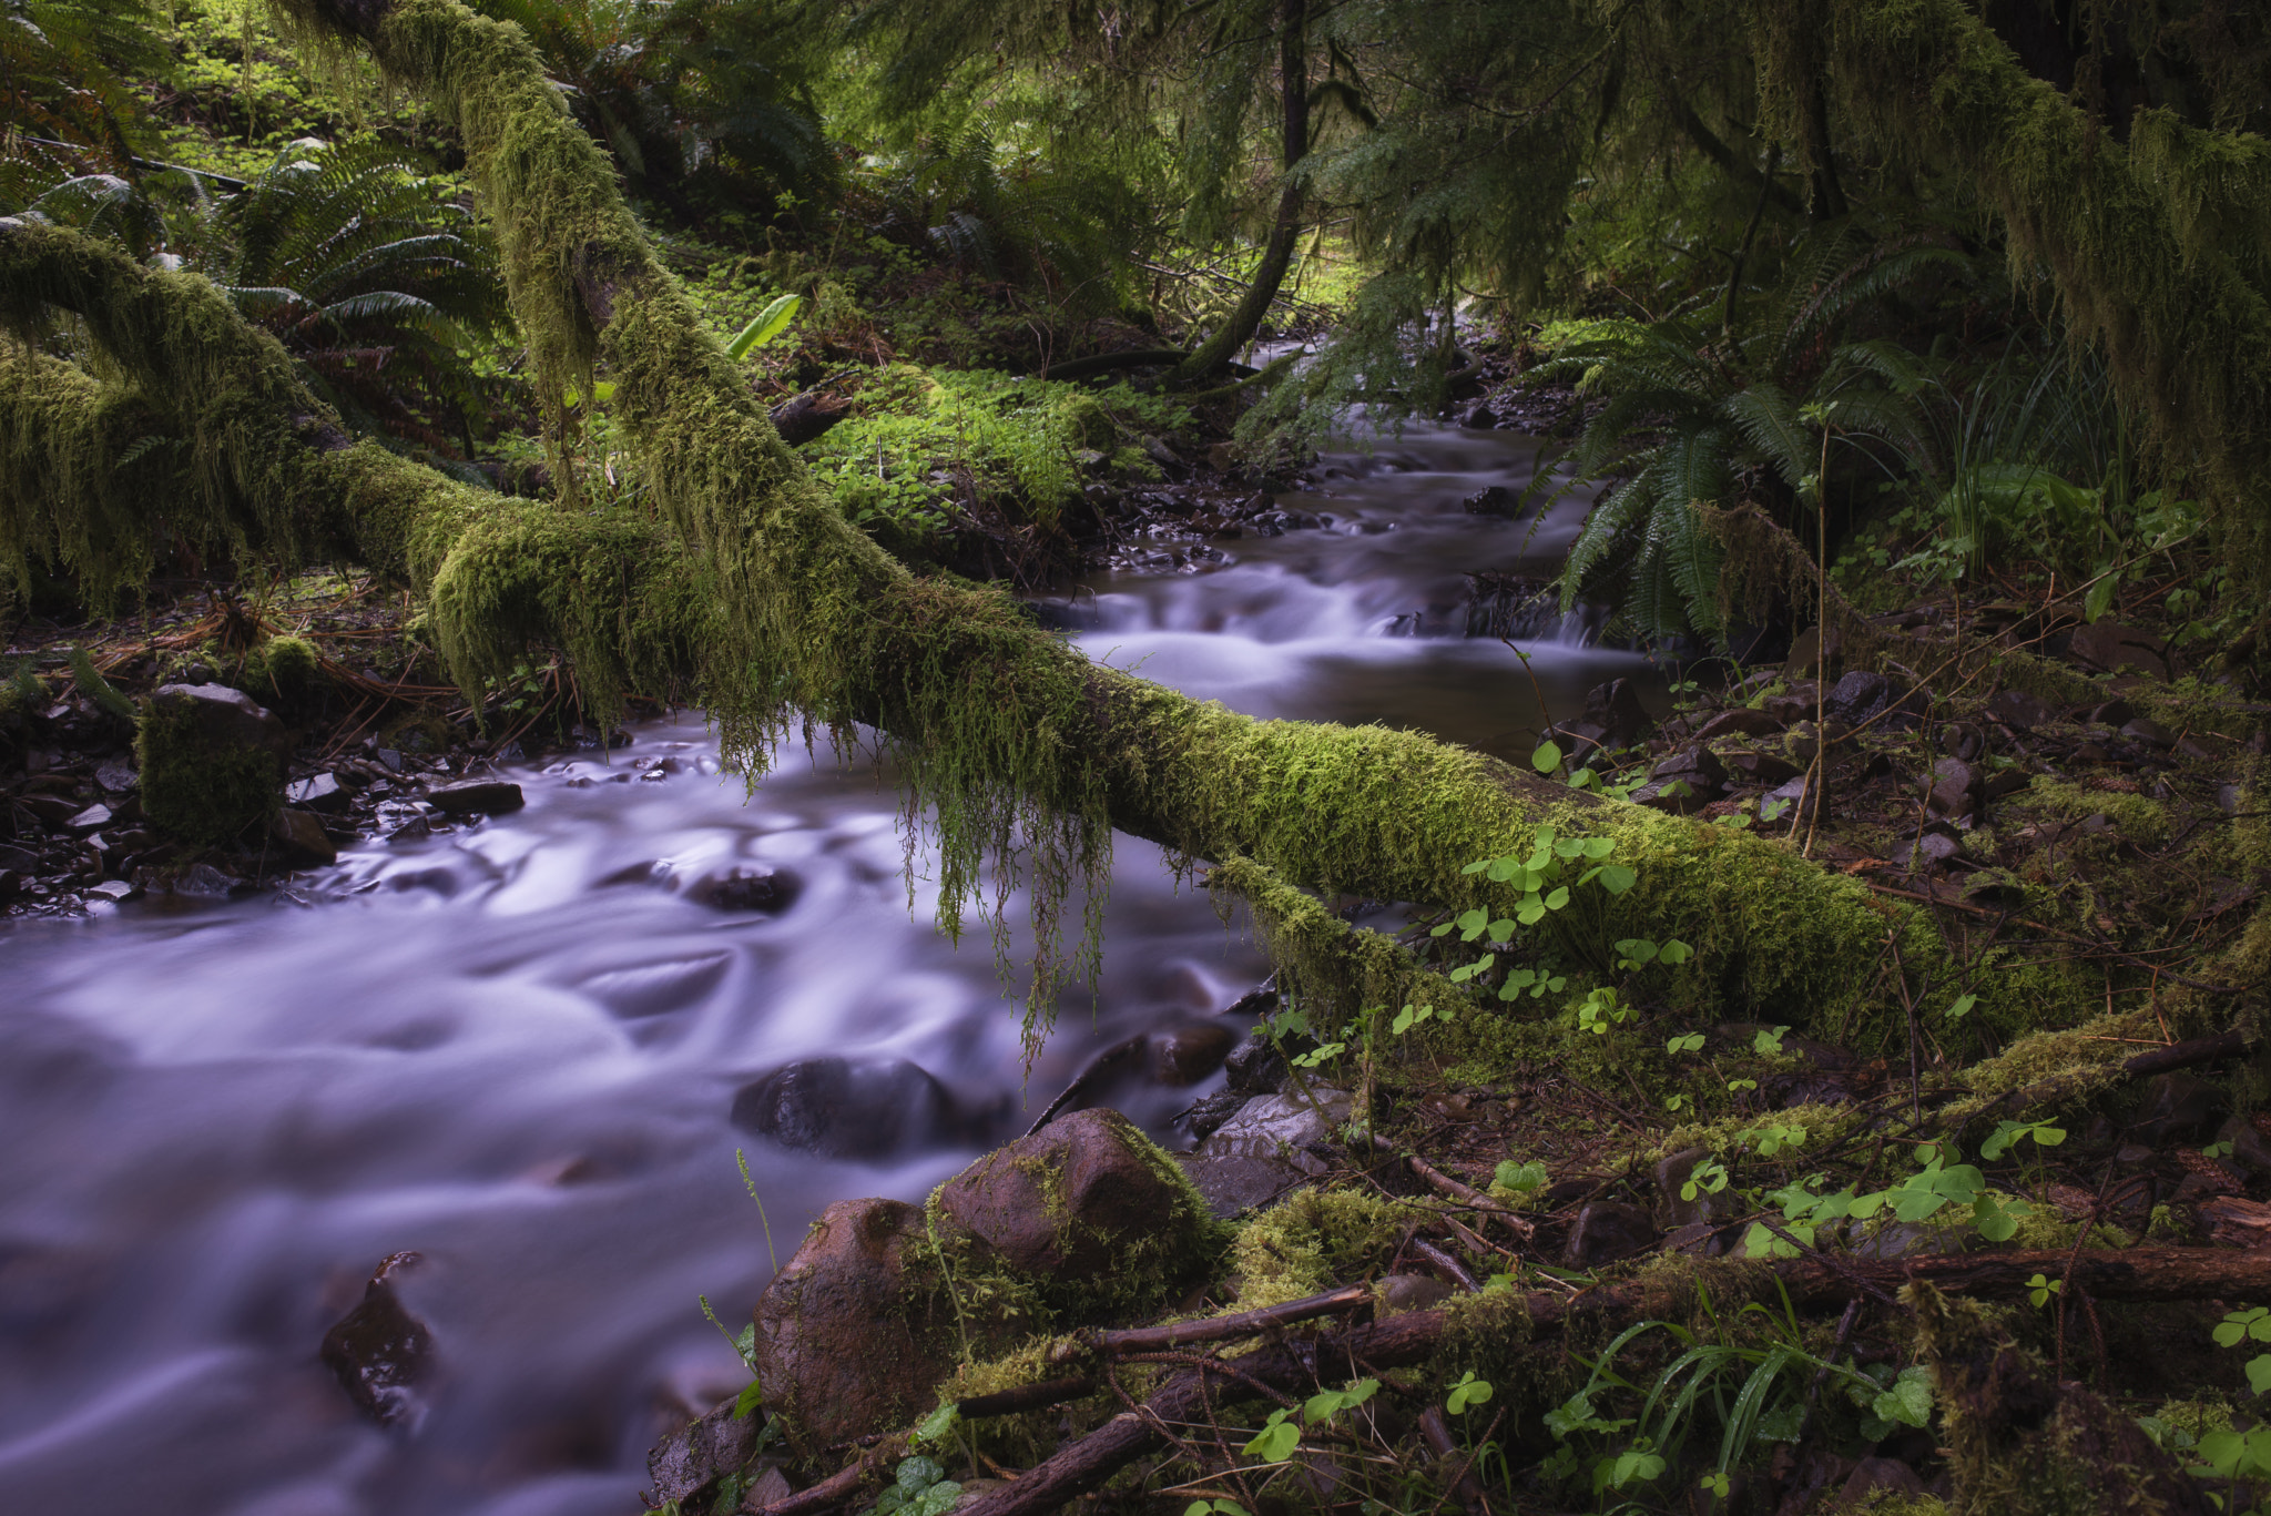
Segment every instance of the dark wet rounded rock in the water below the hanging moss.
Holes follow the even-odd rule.
[[[731,1121],[797,1152],[883,1159],[945,1136],[954,1102],[906,1059],[818,1057],[743,1084]]]

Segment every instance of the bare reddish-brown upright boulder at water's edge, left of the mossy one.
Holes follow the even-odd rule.
[[[799,1455],[931,1409],[954,1332],[911,1307],[922,1239],[904,1200],[838,1200],[756,1298],[756,1377]]]

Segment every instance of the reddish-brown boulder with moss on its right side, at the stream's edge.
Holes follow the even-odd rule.
[[[1133,1243],[1181,1252],[1199,1202],[1126,1116],[1072,1111],[981,1157],[938,1191],[938,1209],[1017,1273],[1049,1284],[1126,1268]]]

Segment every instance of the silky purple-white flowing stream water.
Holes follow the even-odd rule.
[[[1465,570],[1549,570],[1576,527],[1574,500],[1535,527],[1460,507],[1533,455],[1413,430],[1285,498],[1329,525],[1163,545],[1058,614],[1092,657],[1245,711],[1519,757],[1540,698],[1565,716],[1644,668],[1572,627],[1524,643],[1528,670],[1458,634]],[[9,1509],[627,1516],[652,1439],[745,1377],[697,1296],[738,1330],[831,1200],[917,1198],[1099,1048],[1220,1018],[1267,971],[1120,839],[1101,984],[1065,996],[1026,1084],[986,930],[933,930],[922,855],[908,909],[888,784],[779,759],[745,796],[699,718],[650,723],[609,764],[513,771],[518,814],[359,846],[282,898],[0,934]],[[768,868],[786,909],[702,900]],[[831,1159],[731,1123],[738,1089],[813,1057],[849,1059],[899,1141]],[[1167,1136],[1215,1082],[1113,1102]],[[418,1425],[382,1430],[316,1346],[400,1250],[438,1371]]]

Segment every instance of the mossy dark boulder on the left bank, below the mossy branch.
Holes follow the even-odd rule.
[[[227,684],[166,684],[134,736],[143,811],[159,827],[220,843],[277,807],[291,734]]]

